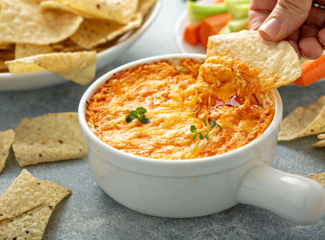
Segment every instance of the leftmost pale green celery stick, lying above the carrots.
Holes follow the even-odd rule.
[[[225,3],[216,5],[199,5],[192,1],[186,1],[186,9],[188,10],[188,20],[191,23],[200,22],[207,16],[213,16],[227,12]]]

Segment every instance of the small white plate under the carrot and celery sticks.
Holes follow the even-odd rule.
[[[213,3],[215,0],[204,0],[204,1],[198,1],[198,3],[204,3],[209,4]],[[202,53],[206,54],[206,49],[202,47],[202,45],[199,43],[198,45],[190,45],[186,43],[186,41],[183,40],[183,32],[185,30],[186,25],[188,25],[188,12],[184,10],[177,19],[176,25],[174,27],[174,36],[176,40],[177,47],[179,50],[183,53]]]

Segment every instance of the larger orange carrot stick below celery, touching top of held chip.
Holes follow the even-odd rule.
[[[199,38],[203,47],[206,49],[208,45],[209,36],[218,34],[218,32],[225,27],[228,21],[232,20],[229,13],[208,16],[203,19],[199,29]]]

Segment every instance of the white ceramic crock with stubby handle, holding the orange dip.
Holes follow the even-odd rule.
[[[135,211],[160,217],[199,217],[238,203],[277,213],[298,224],[314,224],[325,213],[325,189],[314,180],[271,167],[282,101],[278,91],[276,115],[269,128],[247,145],[216,156],[162,160],[127,154],[102,142],[85,120],[85,106],[96,89],[119,71],[161,59],[193,58],[202,54],[173,54],[137,60],[100,77],[80,100],[78,118],[88,147],[91,169],[100,187],[114,200]]]

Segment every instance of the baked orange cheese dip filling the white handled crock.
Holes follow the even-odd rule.
[[[86,120],[99,139],[124,152],[163,159],[202,158],[223,154],[256,139],[271,123],[275,110],[264,95],[232,97],[223,105],[199,82],[201,62],[183,60],[174,66],[166,60],[141,64],[113,75],[89,99]],[[144,107],[150,123],[128,112]],[[203,117],[221,125],[210,130],[208,140],[192,139],[190,125],[207,127]]]

